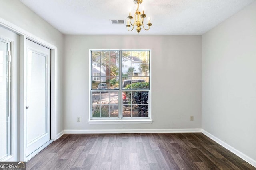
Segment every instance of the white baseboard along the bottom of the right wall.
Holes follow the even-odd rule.
[[[227,143],[223,142],[222,140],[218,139],[217,137],[215,137],[214,135],[208,133],[207,131],[205,131],[204,129],[202,129],[202,133],[204,135],[206,135],[207,137],[209,137],[210,139],[214,140],[216,143],[220,144],[222,147],[228,149],[230,152],[234,153],[236,156],[240,157],[241,159],[245,160],[246,162],[248,162],[249,164],[251,164],[252,166],[254,166],[256,168],[256,160],[253,160],[252,158],[250,158],[249,156],[243,154],[242,152],[240,152],[239,150],[235,149],[234,147],[228,145]]]

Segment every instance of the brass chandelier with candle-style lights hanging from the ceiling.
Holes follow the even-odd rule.
[[[146,28],[144,27],[144,23],[143,23],[143,22],[144,22],[144,18],[146,17],[146,14],[144,14],[144,10],[142,11],[142,14],[141,14],[141,12],[140,12],[140,10],[139,10],[139,4],[141,4],[142,1],[143,1],[143,0],[134,0],[134,1],[133,1],[134,4],[137,4],[137,5],[138,5],[138,6],[137,6],[137,10],[135,11],[135,14],[134,14],[134,23],[131,22],[131,20],[133,19],[133,16],[131,16],[131,13],[129,13],[129,16],[127,17],[127,18],[128,18],[128,21],[127,21],[127,25],[126,25],[126,27],[128,28],[128,31],[132,31],[133,28],[134,28],[134,26],[137,27],[137,28],[136,28],[136,31],[137,31],[138,35],[139,35],[139,33],[140,33],[141,26],[143,26],[143,28],[144,28],[145,30],[149,30],[149,29],[150,29],[150,26],[152,26],[152,23],[150,23],[150,18],[149,18],[149,19],[148,19],[148,23],[147,23],[148,28],[146,29]],[[131,27],[131,26],[132,26],[132,29],[129,30],[129,27]]]

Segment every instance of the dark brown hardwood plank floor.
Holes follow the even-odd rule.
[[[256,170],[202,133],[65,134],[26,169]]]

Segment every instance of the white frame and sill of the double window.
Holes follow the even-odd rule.
[[[102,49],[90,49],[89,50],[89,75],[90,75],[90,85],[89,85],[89,124],[150,124],[152,123],[152,114],[151,114],[151,91],[152,91],[152,86],[151,86],[151,81],[149,81],[149,89],[140,89],[139,91],[148,91],[149,95],[148,95],[148,117],[122,117],[122,81],[119,82],[119,89],[118,90],[106,90],[107,92],[110,91],[118,91],[119,92],[119,115],[118,117],[114,118],[114,117],[101,117],[101,118],[96,118],[96,117],[92,117],[92,100],[91,100],[91,96],[92,96],[92,92],[94,91],[99,91],[97,89],[91,89],[91,81],[92,81],[92,68],[94,68],[92,66],[92,51],[119,51],[119,79],[122,80],[122,68],[123,68],[123,64],[122,64],[122,51],[149,51],[149,59],[151,61],[151,50],[102,50]],[[125,64],[124,64],[125,65]],[[122,66],[122,67],[120,67]],[[150,74],[148,75],[149,78],[151,78],[151,64],[149,63],[150,66]],[[151,79],[150,79],[151,80]],[[105,92],[106,92],[105,91]],[[138,91],[138,90],[130,90],[130,91]],[[120,112],[121,111],[121,112]]]

